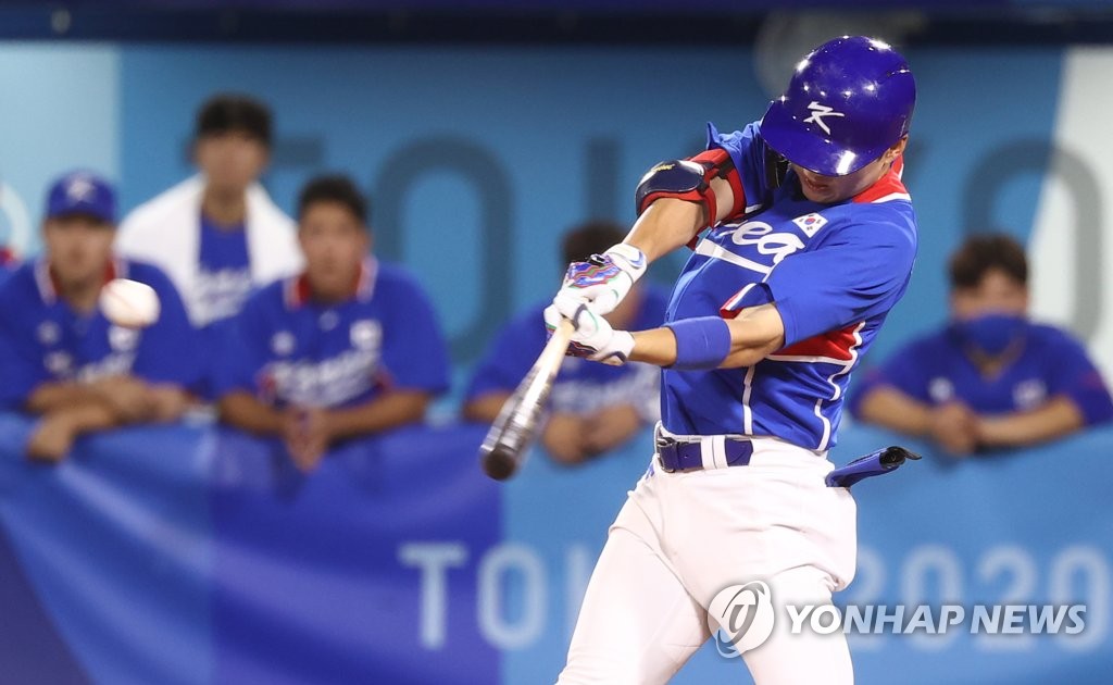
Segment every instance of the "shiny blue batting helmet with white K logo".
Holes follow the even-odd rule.
[[[769,104],[761,136],[792,164],[846,176],[908,133],[915,105],[916,81],[899,52],[844,36],[797,65],[785,95]]]

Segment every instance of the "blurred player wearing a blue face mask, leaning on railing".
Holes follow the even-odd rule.
[[[953,454],[1035,444],[1113,418],[1085,349],[1028,321],[1028,264],[1007,235],[967,239],[951,257],[952,321],[873,370],[851,410],[930,438]]]

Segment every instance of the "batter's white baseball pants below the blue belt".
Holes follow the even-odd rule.
[[[561,685],[667,683],[711,635],[720,590],[762,580],[772,635],[742,657],[757,685],[854,682],[841,632],[789,634],[786,604],[830,604],[854,578],[856,507],[833,464],[754,440],[748,466],[667,473],[630,492],[588,585]]]

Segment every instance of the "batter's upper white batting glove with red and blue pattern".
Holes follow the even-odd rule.
[[[587,303],[597,315],[610,314],[622,302],[649,261],[633,245],[619,243],[587,262],[574,262],[564,274],[564,284],[553,297],[558,307],[572,310]]]

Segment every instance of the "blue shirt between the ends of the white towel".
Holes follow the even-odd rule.
[[[247,231],[244,225],[220,228],[201,215],[197,265],[197,320],[210,324],[235,316],[252,293]]]

